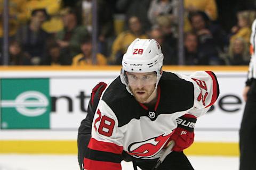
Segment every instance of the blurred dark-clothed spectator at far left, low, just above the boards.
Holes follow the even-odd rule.
[[[9,65],[31,65],[29,54],[23,52],[18,41],[11,41],[9,55]]]

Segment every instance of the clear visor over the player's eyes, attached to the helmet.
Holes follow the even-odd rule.
[[[153,85],[157,83],[157,73],[132,73],[126,72],[125,79],[127,84],[130,86],[135,86],[138,84],[143,84],[143,86]]]

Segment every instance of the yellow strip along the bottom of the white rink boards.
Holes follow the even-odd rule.
[[[19,154],[77,154],[74,140],[4,140],[0,141],[0,153]],[[238,156],[238,143],[194,142],[185,150],[187,155]]]

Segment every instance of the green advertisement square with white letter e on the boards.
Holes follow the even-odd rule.
[[[49,129],[49,79],[1,79],[1,129]]]

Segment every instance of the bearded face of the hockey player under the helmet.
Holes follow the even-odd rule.
[[[150,102],[149,97],[153,94],[157,83],[156,72],[131,73],[126,72],[130,90],[135,99],[140,103]]]

